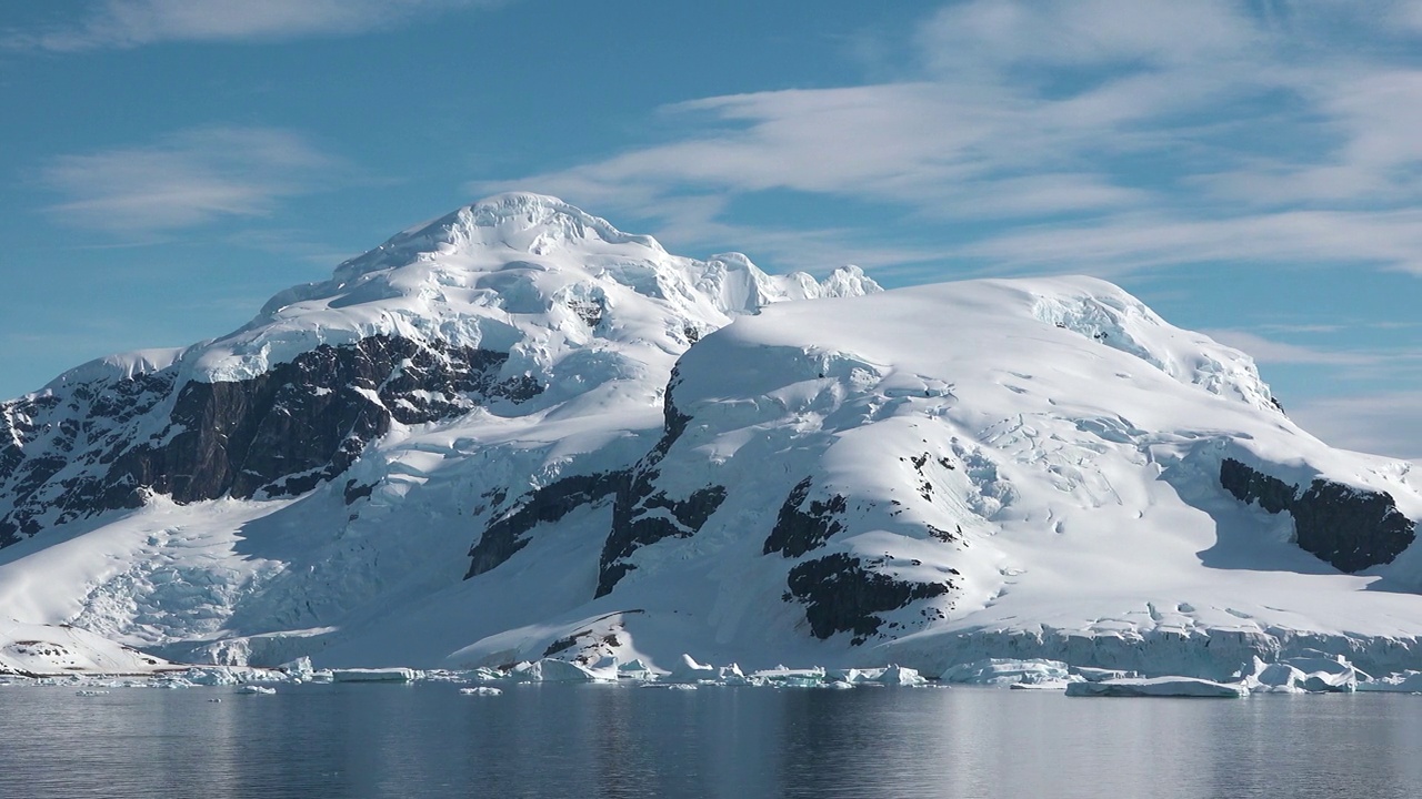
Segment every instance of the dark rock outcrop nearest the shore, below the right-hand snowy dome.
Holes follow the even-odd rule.
[[[856,645],[879,633],[883,618],[876,614],[943,596],[954,587],[951,581],[899,580],[845,553],[801,563],[791,569],[788,584],[786,599],[805,603],[805,618],[816,638],[853,633]]]

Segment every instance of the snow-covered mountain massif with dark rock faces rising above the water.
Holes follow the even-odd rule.
[[[1422,665],[1413,465],[1092,279],[772,277],[503,195],[0,434],[0,618],[172,660]]]

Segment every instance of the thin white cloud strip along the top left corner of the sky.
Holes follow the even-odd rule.
[[[7,31],[11,47],[54,51],[139,47],[161,41],[264,41],[348,36],[417,14],[502,0],[102,0],[82,18],[50,30]]]

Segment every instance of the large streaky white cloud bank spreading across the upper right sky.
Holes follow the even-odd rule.
[[[946,260],[998,273],[1234,260],[1422,274],[1419,9],[956,1],[900,43],[903,81],[681,102],[663,109],[661,144],[469,188],[745,239],[764,230],[728,198],[876,203],[943,233]],[[917,257],[929,239],[896,249]]]

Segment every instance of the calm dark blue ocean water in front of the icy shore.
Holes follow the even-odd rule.
[[[1402,694],[458,688],[0,687],[0,798],[1422,796]]]

